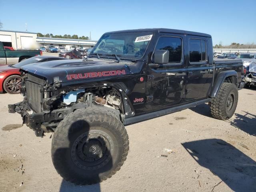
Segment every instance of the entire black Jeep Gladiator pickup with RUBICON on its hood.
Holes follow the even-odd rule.
[[[8,108],[36,136],[54,132],[52,161],[64,179],[94,184],[124,164],[127,124],[206,102],[214,118],[231,118],[242,73],[241,60],[213,60],[208,34],[107,32],[84,60],[23,66],[24,100]]]

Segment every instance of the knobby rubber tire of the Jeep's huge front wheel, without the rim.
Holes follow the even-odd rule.
[[[88,165],[86,164],[84,167],[84,162],[81,163],[81,159],[78,159],[78,156],[75,155],[77,162],[80,162],[78,166],[77,162],[74,162],[75,156],[73,156],[73,154],[76,154],[74,146],[78,138],[81,139],[80,137],[86,135],[86,133],[88,134],[87,138],[90,138],[91,133],[97,133],[97,131],[98,134],[101,132],[110,136],[108,137],[110,150],[107,156],[107,158],[110,157],[110,160],[107,163],[104,161],[103,166],[99,164],[87,169]],[[79,143],[80,141],[77,145]],[[80,154],[84,154],[84,146]],[[124,164],[128,150],[129,139],[124,125],[114,114],[104,108],[102,110],[86,108],[68,114],[57,126],[52,138],[52,162],[54,167],[65,180],[78,185],[96,184],[111,178]]]

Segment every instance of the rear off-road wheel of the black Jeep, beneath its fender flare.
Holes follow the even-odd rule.
[[[232,106],[228,105],[228,98],[231,97]],[[228,120],[236,110],[238,102],[238,89],[232,83],[222,83],[220,90],[215,98],[210,101],[210,111],[214,118]],[[229,109],[230,108],[230,109]]]

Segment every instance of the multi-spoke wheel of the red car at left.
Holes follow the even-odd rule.
[[[4,90],[10,94],[20,93],[21,78],[19,75],[12,75],[4,80]]]

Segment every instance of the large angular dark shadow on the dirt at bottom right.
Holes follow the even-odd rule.
[[[256,162],[234,146],[220,139],[198,140],[182,145],[200,166],[208,168],[233,191],[256,191]]]

